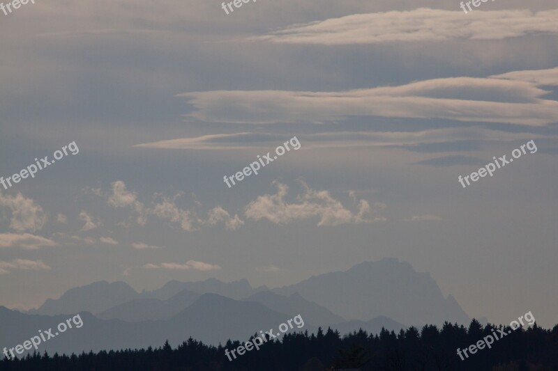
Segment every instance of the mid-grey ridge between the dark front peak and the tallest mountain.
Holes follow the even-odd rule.
[[[304,322],[314,324],[315,326],[324,327],[345,322],[345,319],[331,313],[331,311],[326,308],[304,299],[298,292],[295,292],[289,297],[285,297],[283,295],[274,294],[271,291],[263,291],[244,300],[255,301],[267,308],[277,310],[291,317],[300,314]]]

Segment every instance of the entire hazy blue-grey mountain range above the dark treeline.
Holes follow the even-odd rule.
[[[304,326],[291,331],[331,327],[341,334],[470,321],[430,274],[414,271],[407,262],[383,259],[271,290],[254,288],[246,279],[169,281],[147,292],[136,292],[124,282],[91,283],[27,313],[0,307],[0,346],[22,344],[75,313],[84,325],[44,342],[41,352],[159,347],[165,340],[176,346],[190,336],[211,345],[246,341],[260,330],[277,331],[296,315]]]

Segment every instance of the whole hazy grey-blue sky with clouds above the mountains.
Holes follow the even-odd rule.
[[[557,324],[558,1],[472,9],[36,0],[0,13],[0,176],[68,146],[0,185],[0,305],[103,280],[280,287],[398,258],[469,316]],[[227,187],[289,140],[299,149]]]

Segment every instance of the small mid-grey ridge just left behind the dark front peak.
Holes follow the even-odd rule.
[[[188,308],[201,294],[183,290],[167,300],[133,299],[98,313],[100,319],[121,319],[126,322],[140,322],[149,319],[170,319],[181,310]]]

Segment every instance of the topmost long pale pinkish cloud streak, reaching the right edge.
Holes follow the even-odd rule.
[[[534,33],[558,34],[558,10],[474,11],[418,8],[354,14],[296,24],[250,38],[290,44],[354,45],[445,40],[502,40]]]

